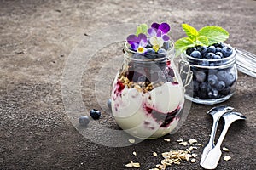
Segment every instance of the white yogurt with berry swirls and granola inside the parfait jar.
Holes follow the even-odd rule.
[[[182,84],[170,79],[160,83],[132,82],[127,73],[120,75],[113,82],[112,92],[112,111],[119,127],[142,139],[171,133],[183,108]]]

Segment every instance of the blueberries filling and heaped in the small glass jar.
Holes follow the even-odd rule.
[[[208,66],[191,67],[193,71],[193,97],[198,99],[220,99],[231,94],[236,86],[236,67],[230,65],[227,68],[212,66],[224,65],[222,62],[214,62],[214,59],[224,59],[233,53],[232,48],[223,43],[209,47],[188,48],[186,54],[196,58],[197,65]],[[211,62],[208,59],[213,59]],[[220,64],[218,64],[220,63]],[[195,64],[195,63],[193,63]],[[211,68],[212,67],[212,68]]]

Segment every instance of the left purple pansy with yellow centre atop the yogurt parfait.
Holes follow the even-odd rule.
[[[147,46],[147,36],[143,33],[140,33],[138,36],[130,35],[127,37],[127,42],[131,45],[131,48],[138,53],[145,53]]]

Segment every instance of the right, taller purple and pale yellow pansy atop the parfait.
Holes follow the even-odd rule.
[[[154,51],[158,51],[168,41],[170,37],[166,35],[170,31],[170,26],[167,23],[153,23],[148,29],[150,36],[149,42],[153,45]]]

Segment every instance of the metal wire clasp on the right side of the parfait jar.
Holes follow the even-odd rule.
[[[179,60],[178,62],[178,69],[179,69],[179,74],[182,77],[184,84],[184,89],[189,85],[189,83],[192,81],[193,77],[193,72],[190,70],[190,65],[189,62],[184,61],[183,59]]]

